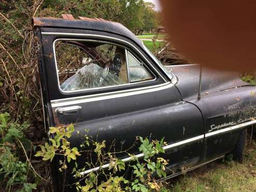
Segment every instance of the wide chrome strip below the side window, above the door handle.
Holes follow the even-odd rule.
[[[100,100],[106,100],[106,99],[128,97],[136,94],[143,94],[143,93],[164,90],[172,86],[174,86],[172,83],[167,82],[160,85],[147,86],[147,87],[141,87],[141,88],[135,88],[135,89],[127,89],[122,91],[105,92],[105,93],[99,93],[99,94],[84,95],[80,97],[51,100],[51,106],[55,108],[55,107],[61,107],[66,105],[75,105],[80,103],[88,103],[88,102],[94,102],[94,101],[100,101]]]

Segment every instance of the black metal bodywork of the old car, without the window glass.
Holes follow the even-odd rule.
[[[42,43],[39,72],[48,126],[73,123],[80,133],[89,129],[87,134],[97,141],[105,140],[107,146],[114,142],[115,150],[129,148],[136,136],[165,138],[164,157],[169,159],[172,170],[169,174],[176,175],[231,152],[241,128],[256,124],[256,98],[251,93],[255,87],[241,81],[239,74],[203,69],[202,96],[198,100],[198,65],[168,66],[167,71],[172,70],[168,73],[123,25],[103,20],[34,18],[34,31]],[[54,47],[58,39],[67,45],[82,46],[90,41],[95,47],[97,42],[120,46],[144,63],[142,66],[155,78],[65,92],[58,79]],[[79,110],[60,113],[69,107]],[[78,146],[83,139],[73,135],[70,142]],[[137,148],[131,148],[129,153],[141,155]],[[118,154],[120,159],[126,157]],[[86,160],[83,155],[77,159],[81,166]],[[53,179],[56,186],[62,186],[58,162],[56,157],[52,163]],[[83,174],[91,171],[88,168]],[[72,174],[67,178],[68,183],[74,180]]]

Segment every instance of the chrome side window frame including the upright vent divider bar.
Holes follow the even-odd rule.
[[[72,91],[64,91],[61,89],[60,87],[60,81],[59,81],[59,73],[58,73],[58,64],[57,64],[57,58],[56,58],[56,50],[55,50],[55,44],[58,40],[74,40],[74,41],[77,41],[77,42],[101,42],[101,43],[107,43],[107,44],[111,44],[111,45],[115,45],[115,46],[119,46],[119,47],[123,47],[125,49],[125,54],[126,54],[126,67],[127,67],[127,75],[128,75],[128,83],[126,84],[122,84],[122,85],[113,85],[113,86],[105,86],[105,87],[96,87],[96,88],[89,88],[89,89],[79,89],[79,90],[72,90]],[[74,47],[79,47],[77,45],[73,45],[73,44],[68,44],[68,45],[71,45],[71,46],[74,46]],[[127,86],[127,85],[136,85],[136,84],[141,84],[141,83],[145,83],[145,82],[153,82],[153,81],[156,81],[157,78],[162,78],[160,76],[157,76],[156,75],[156,69],[155,67],[147,60],[145,61],[142,61],[143,63],[145,63],[144,65],[145,66],[142,66],[150,75],[152,75],[153,79],[150,79],[150,80],[141,80],[141,81],[136,81],[134,83],[130,83],[130,79],[129,79],[129,66],[128,66],[128,58],[127,58],[127,54],[128,54],[128,51],[130,52],[131,56],[134,57],[134,59],[138,60],[136,56],[134,56],[134,51],[132,51],[131,49],[129,49],[128,47],[126,46],[123,46],[123,45],[120,45],[120,44],[117,44],[117,43],[113,43],[109,40],[97,40],[97,39],[79,39],[79,38],[57,38],[53,41],[53,44],[52,44],[52,47],[53,47],[53,56],[54,56],[54,62],[55,62],[55,67],[56,67],[56,75],[57,75],[57,83],[58,83],[58,89],[61,93],[80,93],[80,92],[83,92],[83,91],[93,91],[93,90],[106,90],[107,88],[119,88],[119,87],[122,87],[122,86]],[[79,47],[79,48],[82,48],[83,47]],[[84,49],[83,49],[84,50]],[[140,53],[142,54],[142,53]],[[138,60],[139,61],[139,60]],[[149,66],[147,66],[148,63],[153,70],[151,70],[151,68]],[[153,72],[154,71],[154,72]],[[163,79],[163,78],[162,78]],[[163,79],[164,80],[164,79]],[[132,88],[131,88],[132,89]]]

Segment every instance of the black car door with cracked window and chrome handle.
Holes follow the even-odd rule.
[[[115,143],[116,152],[130,148],[136,136],[165,138],[164,157],[170,169],[198,162],[204,146],[201,113],[182,101],[142,46],[100,31],[41,27],[37,35],[42,43],[39,69],[49,126],[74,124],[80,134],[105,140],[106,146]],[[74,134],[70,142],[79,147],[83,139]],[[140,154],[138,145],[129,153]],[[77,162],[85,167],[89,160],[82,154]],[[55,183],[61,186],[58,156],[53,164]],[[88,167],[83,174],[93,170]],[[68,182],[72,177],[68,175]]]

